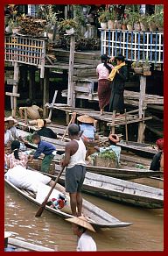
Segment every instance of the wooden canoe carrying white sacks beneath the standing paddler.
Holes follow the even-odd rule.
[[[25,197],[28,201],[31,203],[34,203],[36,205],[40,205],[38,201],[36,200],[36,195],[32,193],[31,191],[20,189],[14,186],[10,181],[7,181],[4,179],[5,184],[18,192],[20,196]],[[59,185],[59,188],[61,187],[61,191],[65,191],[65,188]],[[61,217],[63,219],[66,219],[68,217],[73,217],[72,215],[62,211],[62,210],[55,210],[52,209],[49,206],[45,206],[45,210],[48,210],[55,214],[57,217]],[[87,200],[83,200],[83,215],[88,217],[88,221],[95,226],[95,228],[116,228],[116,227],[125,227],[129,226],[132,223],[126,223],[122,222],[116,217],[111,216],[106,211],[98,208],[93,203],[89,203]],[[35,216],[35,212],[32,213],[32,216]]]

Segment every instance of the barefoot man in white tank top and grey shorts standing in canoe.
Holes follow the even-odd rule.
[[[69,126],[68,136],[71,141],[66,144],[65,159],[61,161],[61,166],[66,167],[66,192],[70,196],[72,214],[77,217],[81,216],[81,187],[86,174],[87,154],[79,133],[80,129],[77,124]]]

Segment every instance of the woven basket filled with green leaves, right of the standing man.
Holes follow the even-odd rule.
[[[95,167],[108,167],[108,168],[117,168],[118,162],[117,160],[104,159],[98,155],[95,156],[94,160]]]

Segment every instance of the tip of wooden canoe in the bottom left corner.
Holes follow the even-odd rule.
[[[8,238],[8,249],[13,249],[12,252],[56,252],[58,251],[58,246],[55,245],[55,250],[47,248],[41,245],[33,245],[31,243],[16,239]]]

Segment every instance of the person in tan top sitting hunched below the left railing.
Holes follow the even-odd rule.
[[[26,100],[26,107],[20,107],[19,113],[20,117],[24,118],[23,113],[27,110],[27,117],[34,120],[39,119],[42,116],[43,110],[39,108],[37,105],[32,104],[31,99]]]

